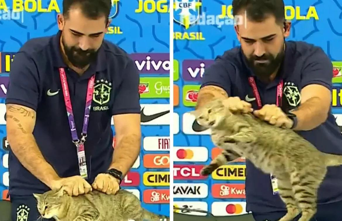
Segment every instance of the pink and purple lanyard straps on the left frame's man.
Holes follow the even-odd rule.
[[[82,145],[86,141],[86,137],[87,137],[88,122],[89,122],[88,120],[89,120],[89,114],[90,114],[90,108],[91,108],[91,101],[93,98],[95,75],[93,75],[88,81],[88,89],[87,89],[87,97],[86,97],[86,109],[84,110],[83,128],[82,128],[82,134],[81,134],[82,138],[81,138],[81,140],[79,140],[78,135],[77,135],[77,131],[76,131],[73,107],[71,105],[70,93],[69,93],[69,88],[68,88],[65,70],[64,70],[64,68],[59,68],[59,70],[60,70],[60,77],[61,77],[61,81],[62,81],[62,88],[63,88],[63,95],[64,95],[64,101],[65,101],[65,106],[66,106],[66,112],[68,114],[71,137],[73,138],[73,142],[75,143],[76,146]]]

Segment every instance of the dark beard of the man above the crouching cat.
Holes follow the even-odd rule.
[[[80,48],[75,46],[69,47],[64,41],[62,36],[62,44],[64,48],[65,55],[67,56],[69,62],[73,64],[75,67],[83,69],[91,62],[96,60],[97,51],[94,49],[88,49],[83,51]],[[89,53],[89,54],[88,54]]]

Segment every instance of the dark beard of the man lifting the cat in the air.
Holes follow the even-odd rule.
[[[244,54],[248,66],[252,69],[253,73],[258,76],[262,80],[269,80],[269,76],[271,76],[276,69],[281,64],[282,60],[285,56],[285,45],[283,44],[280,51],[276,56],[273,56],[272,54],[264,54],[261,57],[252,55],[250,58],[247,58]],[[264,61],[265,63],[259,63],[256,61]]]

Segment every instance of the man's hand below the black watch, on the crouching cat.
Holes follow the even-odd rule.
[[[96,176],[93,188],[106,194],[116,194],[119,190],[119,180],[107,174],[100,173]]]

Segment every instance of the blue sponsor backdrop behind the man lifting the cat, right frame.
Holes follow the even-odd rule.
[[[286,18],[292,21],[288,40],[306,41],[321,47],[334,64],[331,107],[341,126],[341,1],[284,2]],[[212,144],[209,131],[194,131],[194,117],[186,112],[194,109],[205,68],[217,55],[239,46],[232,26],[231,4],[232,0],[179,0],[174,4],[174,205],[206,210],[214,216],[246,213],[245,162],[239,159],[217,169],[209,178],[201,177],[200,169],[220,150]]]

